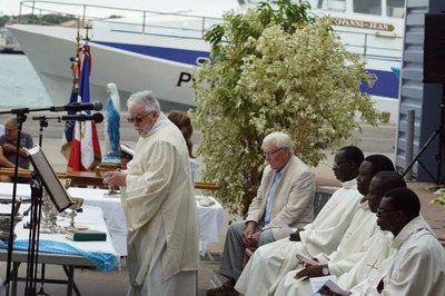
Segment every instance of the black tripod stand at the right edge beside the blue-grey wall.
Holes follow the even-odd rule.
[[[405,175],[413,168],[414,164],[418,162],[418,165],[426,171],[426,174],[429,176],[429,178],[432,178],[434,180],[434,182],[436,184],[436,187],[432,188],[433,190],[438,189],[439,184],[443,182],[442,168],[443,168],[444,154],[445,154],[445,126],[444,125],[445,125],[445,83],[442,85],[439,124],[438,124],[437,128],[434,130],[434,132],[429,136],[428,140],[424,144],[424,146],[417,152],[416,157],[414,157],[414,159],[409,164],[409,166],[406,167],[404,172],[402,174],[402,176],[405,177]],[[426,166],[424,164],[422,164],[419,158],[436,137],[438,137],[438,150],[436,154],[437,170],[436,170],[436,176],[433,176],[433,174],[428,170],[428,168],[426,168]]]

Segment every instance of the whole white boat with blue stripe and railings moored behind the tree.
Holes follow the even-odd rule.
[[[187,1],[184,1],[187,2]],[[184,3],[182,2],[182,3]],[[120,96],[151,89],[162,109],[195,107],[192,71],[209,58],[202,36],[221,21],[222,8],[209,1],[181,11],[151,11],[93,4],[22,1],[21,16],[59,13],[70,24],[29,23],[23,18],[8,29],[20,42],[55,105],[69,101],[72,88],[70,56],[79,31],[88,27],[92,53],[91,100],[106,101],[106,86],[115,82]],[[214,1],[211,1],[214,2]],[[224,1],[224,9],[244,11],[260,1]],[[404,0],[310,0],[314,12],[336,19],[335,30],[352,52],[366,58],[367,70],[377,77],[369,92],[375,107],[398,114],[398,89]],[[174,7],[174,6],[172,6]],[[202,14],[200,14],[202,13]],[[32,18],[34,21],[37,18]],[[122,100],[122,108],[125,108]]]

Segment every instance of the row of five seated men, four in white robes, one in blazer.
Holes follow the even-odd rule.
[[[275,176],[289,169],[288,160],[283,155],[281,166],[274,167],[271,154],[287,146],[286,141],[271,142],[265,138],[269,168],[249,214],[227,233],[220,274],[228,279],[208,289],[208,296],[312,295],[310,278],[324,276],[335,276],[335,284],[347,295],[445,295],[444,248],[419,214],[418,197],[406,188],[390,159],[383,155],[364,158],[354,146],[339,149],[333,170],[342,187],[313,221],[295,226],[281,217],[298,220],[310,201],[301,204],[301,197],[299,211],[286,216],[290,205],[277,200],[294,203],[291,190],[274,193],[287,181],[276,181]],[[306,188],[312,200],[313,188]],[[289,228],[296,229],[287,237],[271,231]],[[243,268],[244,248],[251,247],[256,250]],[[314,295],[337,294],[323,289]]]

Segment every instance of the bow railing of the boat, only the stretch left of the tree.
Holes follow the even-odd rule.
[[[46,14],[55,17],[44,18]],[[62,18],[71,21],[71,23],[60,23]],[[168,26],[166,20],[172,24]],[[184,32],[190,32],[191,36],[202,38],[212,24],[220,21],[219,18],[192,16],[188,14],[187,11],[174,13],[57,1],[21,1],[19,18],[14,20],[14,23],[83,27],[102,22],[121,27],[129,32],[150,33],[155,31],[154,29],[162,29],[176,31],[178,37],[182,36]]]

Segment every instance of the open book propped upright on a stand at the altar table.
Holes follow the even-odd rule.
[[[40,179],[43,182],[44,188],[52,203],[56,205],[58,211],[63,211],[66,208],[72,205],[71,197],[60,182],[56,172],[52,170],[50,164],[39,145],[34,145],[32,148],[23,148],[31,159],[34,170],[39,174]]]

